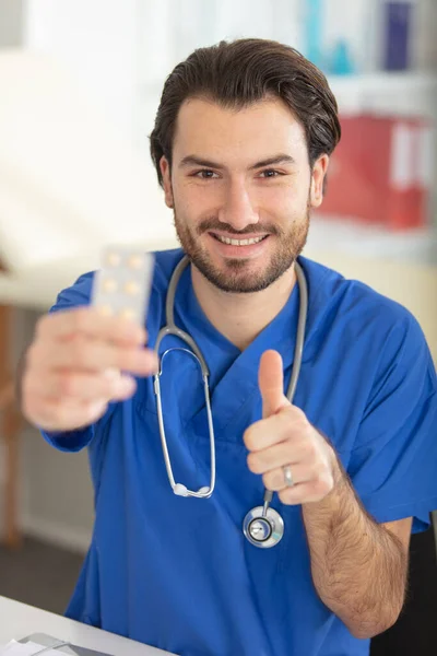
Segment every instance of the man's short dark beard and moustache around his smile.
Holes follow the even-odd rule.
[[[310,204],[307,203],[306,214],[302,220],[293,222],[288,230],[281,230],[276,225],[255,224],[247,225],[244,231],[235,231],[228,223],[222,223],[216,218],[205,219],[194,231],[184,222],[174,211],[174,223],[179,243],[189,257],[191,263],[211,282],[223,292],[236,294],[250,294],[261,292],[279,278],[281,278],[296,261],[307,241],[310,219]],[[199,237],[213,230],[233,233],[235,238],[244,238],[245,234],[262,232],[274,238],[276,249],[270,257],[265,268],[258,273],[251,270],[249,258],[227,258],[223,267],[218,268],[212,261],[208,249],[199,243]]]

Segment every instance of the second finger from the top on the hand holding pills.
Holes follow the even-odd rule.
[[[158,371],[158,359],[151,349],[117,347],[86,338],[57,347],[39,342],[28,352],[28,362],[37,371],[68,368],[103,372],[117,368],[139,376],[150,376]]]

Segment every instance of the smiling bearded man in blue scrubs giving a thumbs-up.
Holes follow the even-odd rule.
[[[96,520],[69,617],[187,656],[363,655],[397,620],[411,530],[437,507],[437,383],[403,307],[299,257],[339,139],[324,77],[280,44],[203,48],[167,79],[151,152],[182,249],[156,254],[147,337],[79,307],[88,273],[26,358],[27,418],[90,449]],[[175,323],[210,370],[208,500],[173,493],[151,378],[184,253]],[[308,317],[292,405],[296,261]],[[185,347],[168,339],[161,355]],[[173,351],[161,386],[175,480],[197,490],[211,461],[196,367]],[[271,549],[241,530],[264,485],[285,527]]]

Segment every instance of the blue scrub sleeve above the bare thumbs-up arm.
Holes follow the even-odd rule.
[[[413,517],[413,532],[429,526],[437,508],[436,372],[410,314],[382,347],[347,471],[378,523]]]

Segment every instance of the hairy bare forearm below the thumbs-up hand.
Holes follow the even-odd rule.
[[[401,541],[376,524],[336,462],[322,501],[303,504],[311,573],[322,601],[357,637],[385,631],[399,616],[406,578]]]

